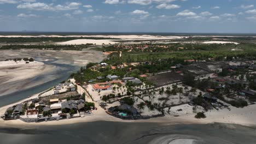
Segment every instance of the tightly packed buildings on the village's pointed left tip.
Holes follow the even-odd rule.
[[[50,99],[48,102],[32,99],[13,107],[4,113],[4,119],[21,119],[25,122],[42,122],[92,114],[84,109],[85,101]]]

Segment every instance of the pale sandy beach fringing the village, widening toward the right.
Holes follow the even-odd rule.
[[[0,108],[0,115],[3,115],[5,110],[13,105],[19,104],[22,101],[28,99],[37,98],[38,94],[32,95],[31,98],[27,98],[19,101],[18,103],[3,106]],[[96,111],[92,111],[94,115],[87,117],[79,117],[72,119],[62,119],[60,121],[48,121],[40,123],[25,123],[19,119],[4,121],[0,119],[0,126],[4,127],[27,127],[37,126],[37,125],[63,125],[63,124],[73,124],[73,123],[87,123],[87,122],[96,122],[96,121],[109,121],[109,122],[137,122],[137,123],[168,123],[170,125],[174,124],[208,124],[208,123],[231,123],[231,124],[240,124],[246,126],[255,126],[256,119],[256,105],[249,105],[243,108],[236,108],[229,105],[230,110],[211,110],[205,112],[206,118],[196,119],[194,116],[196,113],[193,112],[193,106],[188,104],[174,106],[171,108],[170,114],[165,113],[164,117],[150,118],[150,119],[139,119],[139,120],[123,120],[113,116],[108,115],[100,106],[96,104],[98,108]],[[181,112],[178,112],[178,109],[182,109]]]

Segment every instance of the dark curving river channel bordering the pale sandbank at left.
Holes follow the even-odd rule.
[[[72,65],[56,63],[57,59],[51,59],[51,61],[40,61],[40,58],[37,58],[37,57],[35,59],[36,59],[36,61],[44,62],[45,64],[48,64],[48,65],[54,65],[55,70],[51,73],[47,73],[44,75],[34,77],[33,79],[31,79],[31,81],[32,82],[44,81],[49,76],[52,77],[52,80],[45,82],[42,85],[38,85],[35,87],[25,89],[24,91],[15,92],[15,93],[1,96],[0,97],[0,107],[2,107],[4,105],[9,105],[9,104],[15,103],[19,100],[25,99],[28,96],[33,95],[33,94],[43,92],[46,89],[57,85],[59,82],[67,80],[68,77],[74,71],[77,71],[79,69],[79,67],[74,67]]]

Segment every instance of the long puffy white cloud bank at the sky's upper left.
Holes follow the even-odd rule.
[[[67,3],[66,5],[53,5],[46,3],[23,3],[17,6],[18,9],[30,9],[30,10],[48,10],[48,11],[64,11],[78,9],[81,3]]]

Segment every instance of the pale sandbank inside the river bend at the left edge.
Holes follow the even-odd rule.
[[[38,75],[49,73],[53,67],[42,62],[25,61],[1,61],[0,62],[0,96],[10,94],[20,89],[40,85],[41,83],[30,83],[28,79],[33,79]],[[19,83],[19,84],[18,84]],[[11,88],[10,88],[11,87]]]

